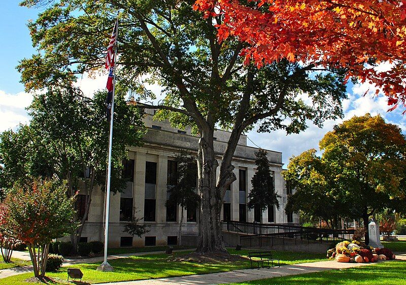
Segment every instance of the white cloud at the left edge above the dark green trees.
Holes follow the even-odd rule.
[[[9,94],[0,90],[0,132],[15,129],[20,123],[29,120],[27,108],[32,102],[32,95],[19,92]]]

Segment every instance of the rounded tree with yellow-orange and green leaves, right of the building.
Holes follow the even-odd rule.
[[[354,116],[320,141],[321,158],[310,150],[291,160],[284,177],[298,190],[288,204],[362,218],[368,243],[369,216],[385,208],[402,211],[406,202],[405,147],[397,125],[380,115]]]

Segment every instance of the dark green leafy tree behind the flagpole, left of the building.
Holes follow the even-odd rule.
[[[126,146],[140,145],[142,132],[137,108],[128,106],[123,91],[118,89],[115,100],[113,130],[112,191],[125,186],[121,178],[121,160],[127,155]],[[0,163],[3,176],[9,181],[27,182],[30,177],[57,177],[66,180],[67,195],[80,191],[85,198],[83,216],[77,217],[71,240],[76,248],[86,223],[96,185],[106,183],[106,164],[109,124],[105,113],[105,92],[96,92],[93,98],[72,88],[51,88],[35,96],[29,107],[31,120],[17,132],[0,135]]]

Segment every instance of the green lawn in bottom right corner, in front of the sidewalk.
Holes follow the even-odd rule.
[[[235,285],[406,285],[406,262],[390,261],[381,264],[331,270],[317,273],[275,277]]]

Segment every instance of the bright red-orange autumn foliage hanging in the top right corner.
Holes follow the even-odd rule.
[[[316,67],[343,67],[388,97],[389,110],[406,106],[406,0],[196,0],[205,17],[223,16],[218,40],[247,42],[246,63],[258,67],[287,58]],[[388,62],[389,71],[367,64]]]

